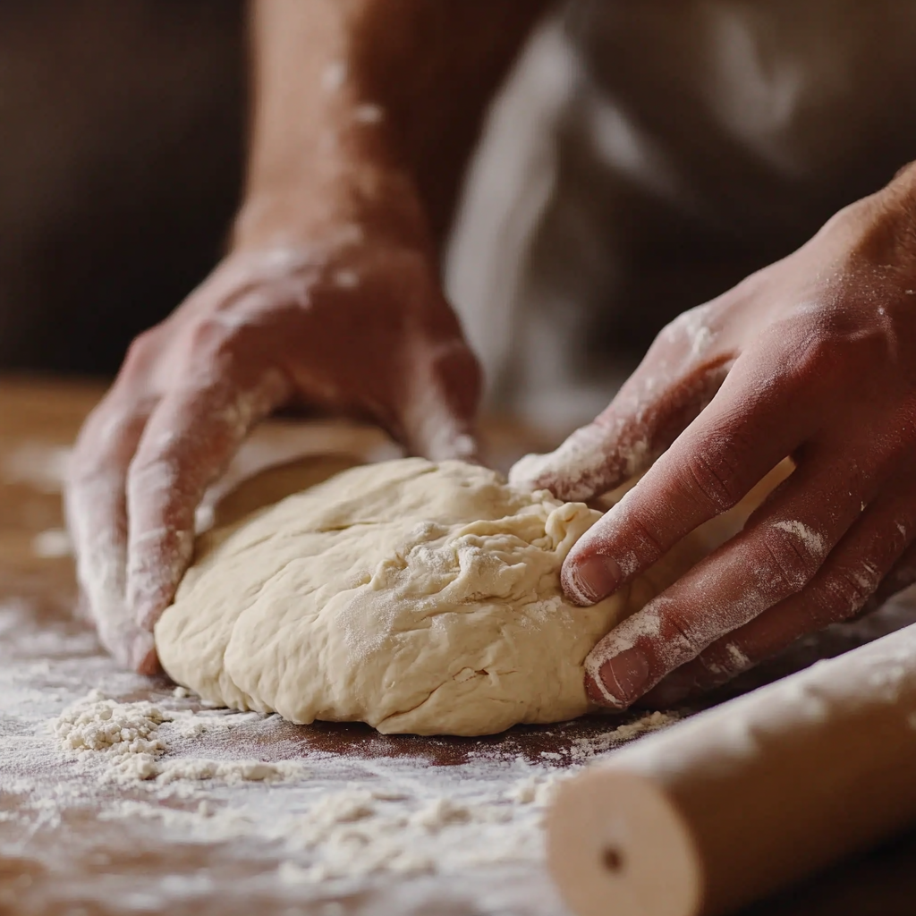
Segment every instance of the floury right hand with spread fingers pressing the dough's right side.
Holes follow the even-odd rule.
[[[594,423],[517,484],[601,494],[658,461],[578,542],[591,605],[738,500],[793,474],[745,528],[586,661],[597,703],[671,703],[916,581],[916,171],[660,333]],[[674,672],[673,674],[671,672]]]

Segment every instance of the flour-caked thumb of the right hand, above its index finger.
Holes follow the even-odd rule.
[[[510,482],[581,502],[649,467],[725,379],[732,355],[714,346],[713,316],[709,306],[701,306],[671,322],[594,422],[555,452],[522,458],[509,472]]]

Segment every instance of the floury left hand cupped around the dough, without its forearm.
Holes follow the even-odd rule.
[[[194,510],[282,405],[374,420],[410,453],[474,453],[474,356],[426,252],[334,244],[229,256],[141,335],[77,442],[67,490],[82,590],[105,646],[157,669],[152,628],[191,560]]]

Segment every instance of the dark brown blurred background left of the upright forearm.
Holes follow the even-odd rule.
[[[113,373],[219,258],[238,0],[0,3],[0,371]]]

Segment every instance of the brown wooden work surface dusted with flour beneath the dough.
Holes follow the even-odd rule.
[[[97,397],[93,387],[0,384],[0,914],[562,916],[541,864],[540,813],[522,803],[518,787],[607,753],[643,725],[627,725],[635,718],[629,716],[484,739],[386,737],[360,725],[293,726],[275,716],[219,714],[176,697],[164,680],[118,671],[91,629],[72,617],[75,587],[60,518],[66,448]],[[502,464],[544,444],[505,424],[488,439]],[[238,473],[296,453],[365,456],[385,448],[371,432],[272,424],[248,446],[247,467]],[[744,687],[912,616],[900,602],[870,623],[809,642]],[[113,780],[104,754],[65,754],[51,730],[55,717],[93,688],[175,714],[184,730],[169,725],[167,757],[304,761],[306,769],[271,783]],[[196,725],[189,730],[189,723]],[[436,805],[441,813],[443,798],[470,807],[453,817],[454,825],[445,817],[429,826],[422,845],[432,864],[370,868],[355,877],[338,868],[316,878],[314,834],[310,841],[296,826],[314,821],[322,797],[361,786],[384,790],[373,803],[401,812],[390,823],[408,812],[414,837],[418,816]],[[360,816],[354,815],[357,827]],[[397,830],[392,836],[397,847]],[[444,850],[441,863],[437,850]],[[753,912],[911,916],[914,901],[916,834]]]

